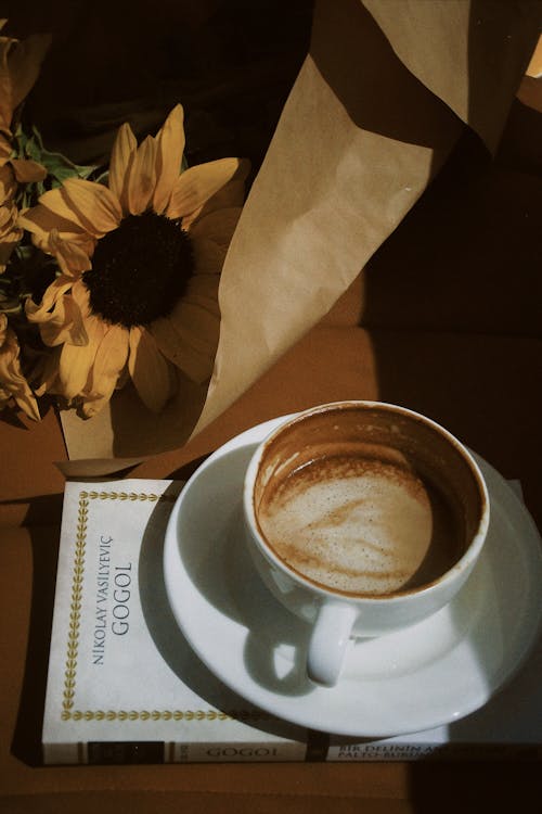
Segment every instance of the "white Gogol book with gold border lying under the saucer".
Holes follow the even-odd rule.
[[[542,756],[542,643],[463,721],[391,738],[289,724],[225,687],[166,595],[163,547],[182,482],[65,486],[42,730],[46,764],[418,761]]]

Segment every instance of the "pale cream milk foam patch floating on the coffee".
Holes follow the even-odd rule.
[[[414,472],[351,458],[292,472],[259,522],[279,557],[305,576],[370,595],[409,583],[434,534],[431,500]]]

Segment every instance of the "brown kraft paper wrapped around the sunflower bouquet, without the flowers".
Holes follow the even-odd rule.
[[[317,0],[310,52],[222,270],[210,383],[181,377],[156,416],[127,386],[96,417],[61,414],[67,474],[181,446],[312,328],[423,194],[470,126],[494,151],[541,5]]]

